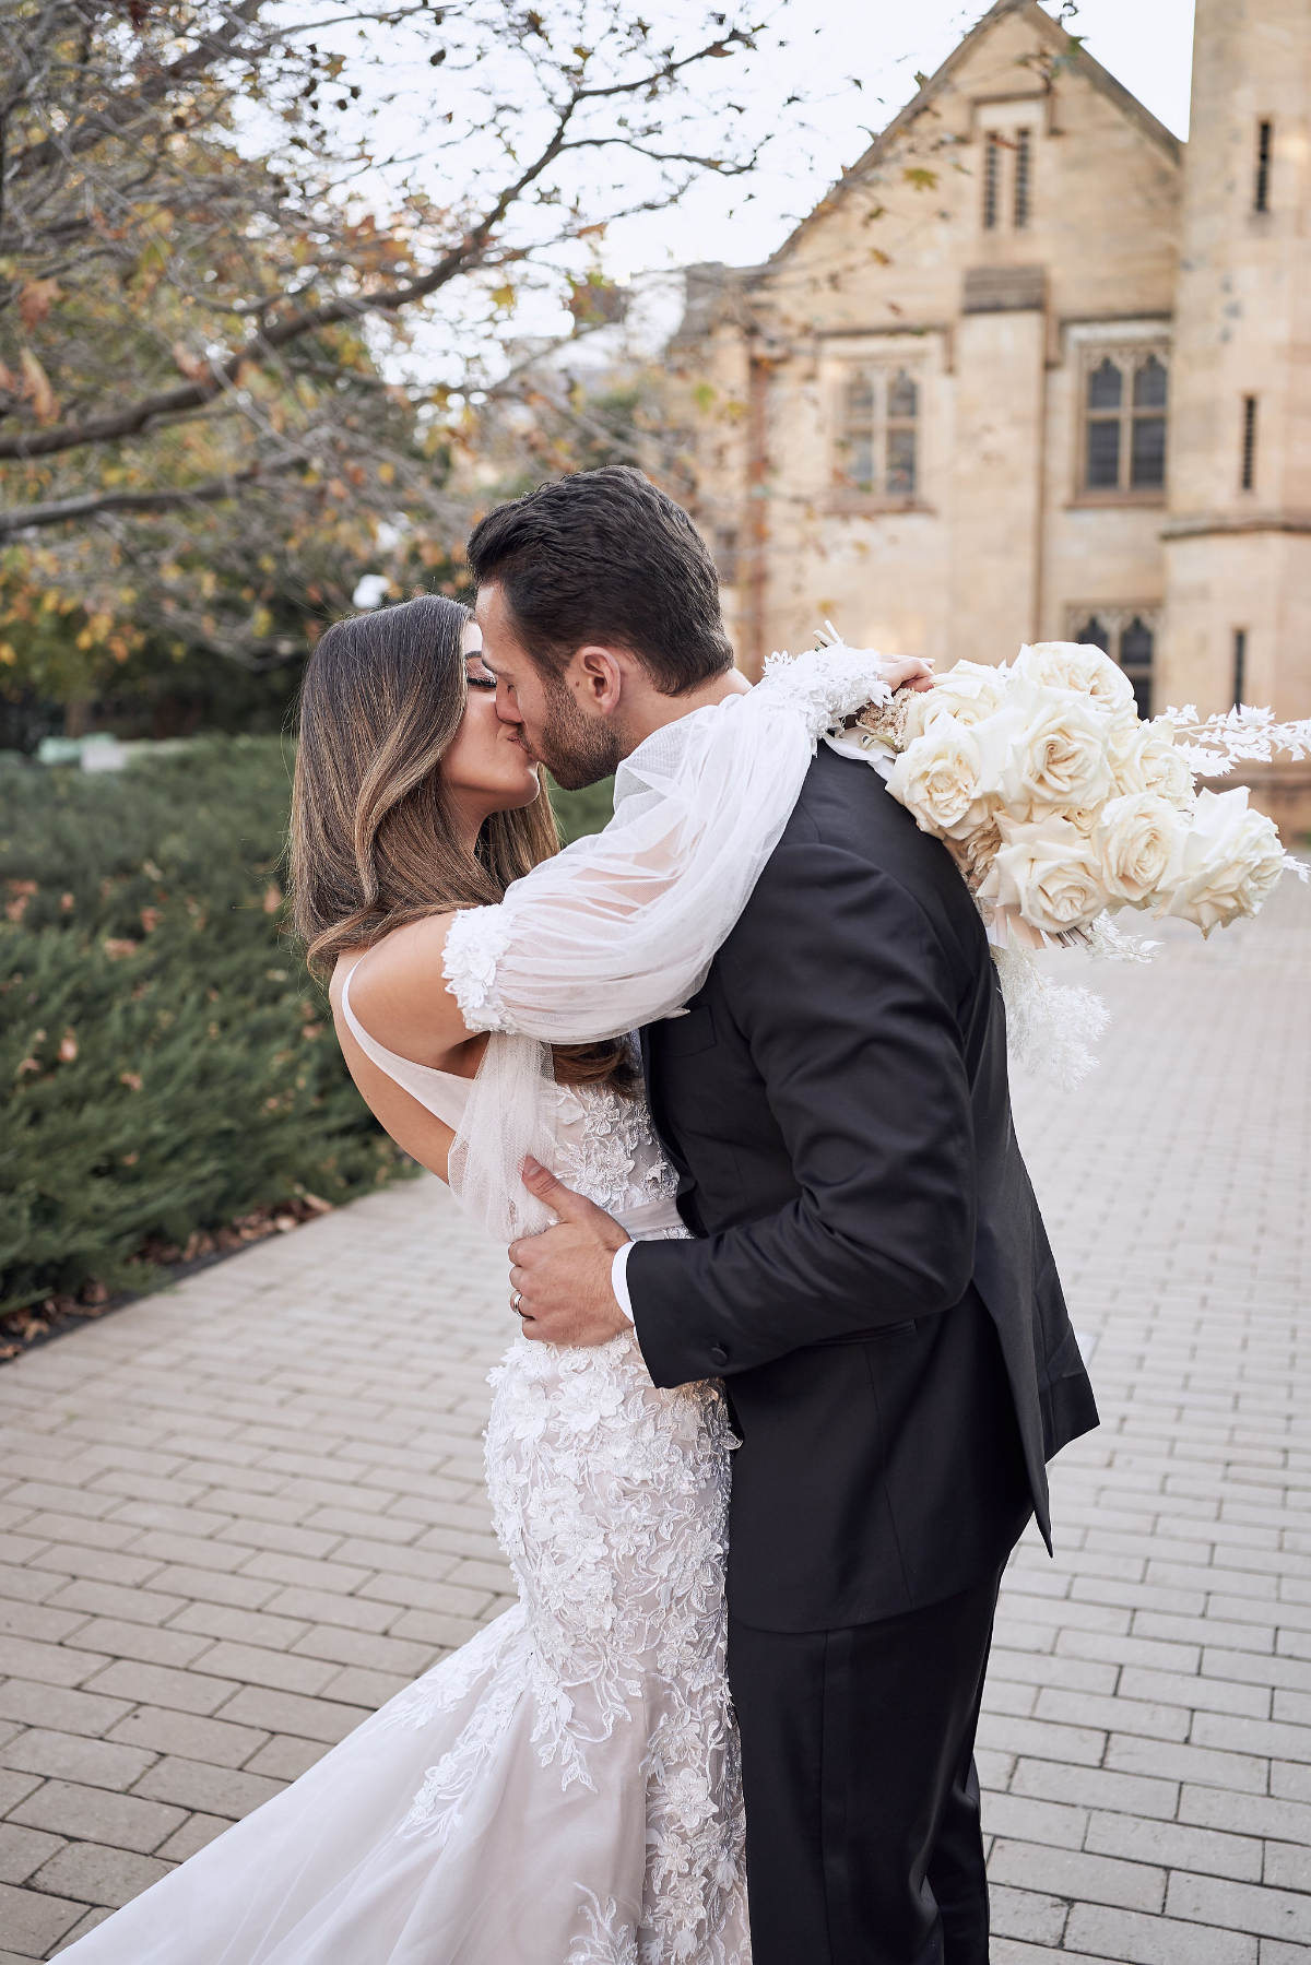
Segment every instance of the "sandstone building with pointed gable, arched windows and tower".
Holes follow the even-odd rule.
[[[827,615],[1311,715],[1309,0],[1197,0],[1189,143],[997,0],[772,259],[688,273],[670,369],[749,672]]]

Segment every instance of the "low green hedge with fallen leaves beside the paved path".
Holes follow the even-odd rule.
[[[0,755],[0,1315],[413,1171],[283,929],[289,768],[275,737],[116,774]],[[560,798],[570,837],[607,810]]]

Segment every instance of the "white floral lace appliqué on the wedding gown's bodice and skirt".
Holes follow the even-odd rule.
[[[560,1179],[615,1214],[672,1201],[676,1177],[639,1100],[607,1087],[556,1096]],[[539,1765],[562,1794],[645,1788],[641,1906],[580,1882],[564,1965],[745,1965],[723,1401],[713,1385],[656,1391],[627,1334],[590,1350],[517,1338],[489,1383],[487,1491],[519,1605],[387,1706],[389,1725],[430,1727],[485,1676],[401,1833],[444,1843],[458,1831],[529,1700]]]

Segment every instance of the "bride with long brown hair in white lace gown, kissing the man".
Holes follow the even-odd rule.
[[[827,694],[778,690],[790,749],[800,735],[808,757],[869,680],[867,656]],[[729,670],[692,692],[702,713],[678,725],[678,762],[637,786],[647,817],[653,790],[682,812],[688,770],[721,766],[723,739],[747,735],[731,711],[751,696],[765,705],[769,686],[743,690]],[[712,780],[731,798],[721,768]],[[664,827],[655,882],[639,855],[643,904],[653,890],[668,900],[686,839],[686,823]],[[743,853],[737,880],[715,853],[717,912],[702,896],[696,959],[670,965],[658,1000],[647,977],[633,1022],[686,998],[772,843]],[[456,971],[468,998],[480,922],[497,920],[503,951],[513,922],[495,904],[556,845],[464,607],[421,597],[326,631],[301,703],[295,918],[364,1098],[503,1238],[548,1218],[517,1179],[527,1148],[633,1238],[682,1236],[627,1036],[546,1047],[474,1036],[460,1016]],[[619,935],[635,926],[633,863],[592,847],[556,863],[584,888],[592,874],[592,912],[570,927],[566,878],[535,914],[537,931],[552,924],[556,963],[574,935],[562,998],[578,996],[596,943],[598,880]],[[531,939],[511,953],[533,967]],[[621,981],[598,979],[596,1030],[615,1024]],[[548,967],[535,984],[550,992]],[[747,1965],[721,1397],[656,1391],[631,1334],[594,1350],[517,1334],[491,1383],[487,1488],[519,1603],[75,1943],[73,1965]]]

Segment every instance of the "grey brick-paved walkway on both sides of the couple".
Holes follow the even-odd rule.
[[[1307,975],[1285,884],[1099,971],[1097,1079],[1016,1089],[1105,1425],[1057,1462],[1057,1560],[1026,1543],[1002,1594],[995,1965],[1311,1959]],[[0,1372],[0,1965],[503,1607],[507,1328],[499,1252],[425,1181]]]

